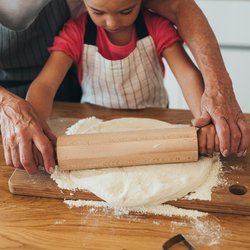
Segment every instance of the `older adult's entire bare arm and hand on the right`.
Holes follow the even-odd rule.
[[[250,128],[235,98],[215,35],[202,11],[193,0],[144,0],[144,4],[176,24],[201,70],[205,84],[202,116],[193,124],[202,127],[212,120],[222,154],[245,155],[250,144]]]

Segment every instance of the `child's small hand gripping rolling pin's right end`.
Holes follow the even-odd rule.
[[[212,157],[214,152],[219,152],[219,140],[213,124],[199,129],[198,144],[201,155]]]

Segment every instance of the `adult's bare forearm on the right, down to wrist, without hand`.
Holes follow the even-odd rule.
[[[216,92],[221,84],[231,87],[216,37],[193,0],[145,0],[146,6],[170,19],[190,48],[202,73],[207,91]]]

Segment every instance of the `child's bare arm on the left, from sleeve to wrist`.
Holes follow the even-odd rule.
[[[47,120],[56,91],[72,63],[71,57],[64,52],[52,52],[42,71],[29,87],[26,100],[42,120]]]

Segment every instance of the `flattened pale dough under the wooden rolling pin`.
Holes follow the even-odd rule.
[[[82,119],[67,134],[166,128],[171,125],[154,119],[122,118],[102,121]],[[194,192],[206,182],[213,159],[194,163],[160,164],[124,168],[55,171],[52,178],[60,188],[89,190],[114,207],[161,204]]]

